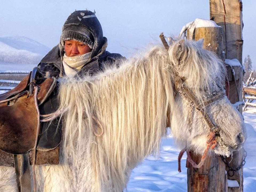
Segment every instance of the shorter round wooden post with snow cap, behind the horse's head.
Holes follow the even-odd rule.
[[[223,57],[221,27],[195,28],[194,33],[189,32],[187,34],[187,39],[198,41],[203,38],[203,49],[214,52],[220,58]],[[190,155],[193,161],[198,164],[201,156],[192,152]],[[225,163],[219,155],[207,157],[205,163],[199,169],[194,168],[191,164],[188,164],[187,167],[189,192],[227,192]]]

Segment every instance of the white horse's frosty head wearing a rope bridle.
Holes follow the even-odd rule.
[[[169,49],[174,66],[176,107],[171,130],[180,147],[203,154],[208,143],[215,153],[229,156],[242,147],[245,125],[225,96],[226,68],[196,42],[180,40]]]

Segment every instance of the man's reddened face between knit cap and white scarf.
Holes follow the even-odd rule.
[[[75,40],[66,40],[64,50],[68,57],[83,55],[92,51],[92,49],[88,45],[85,45],[84,43]]]

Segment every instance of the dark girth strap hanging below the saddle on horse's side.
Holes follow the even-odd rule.
[[[13,155],[17,187],[19,192],[31,191],[29,152]]]

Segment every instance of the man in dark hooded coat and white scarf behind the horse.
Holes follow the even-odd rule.
[[[107,38],[103,37],[95,11],[74,11],[62,27],[60,43],[45,55],[38,69],[44,77],[94,74],[104,68],[104,62],[124,58],[106,48]]]

